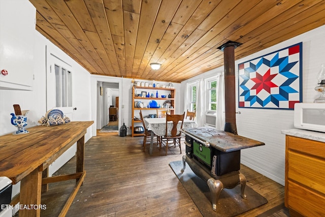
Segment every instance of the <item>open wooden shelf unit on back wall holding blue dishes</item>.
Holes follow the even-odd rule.
[[[156,92],[158,91],[158,98],[156,98]],[[156,114],[157,110],[165,110],[165,108],[147,108],[147,105],[151,100],[156,101],[159,105],[164,104],[165,101],[170,101],[171,107],[170,113],[174,114],[175,109],[175,89],[170,88],[160,88],[160,87],[143,87],[143,86],[133,86],[132,87],[132,137],[134,136],[143,136],[143,134],[135,134],[134,127],[135,126],[142,126],[141,120],[135,120],[136,117],[140,117],[140,110],[144,116],[146,116],[145,111],[150,111],[150,114]],[[146,98],[146,97],[138,97],[138,94],[141,95],[142,92],[146,92],[146,94],[150,93],[154,95],[154,98]],[[171,98],[168,98],[168,95],[171,95]],[[167,98],[161,98],[161,95],[166,95]],[[137,108],[135,106],[135,102],[140,101],[143,102],[145,107],[144,108]]]

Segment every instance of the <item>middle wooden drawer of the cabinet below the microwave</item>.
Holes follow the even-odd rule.
[[[325,161],[288,151],[288,179],[295,180],[325,195]]]

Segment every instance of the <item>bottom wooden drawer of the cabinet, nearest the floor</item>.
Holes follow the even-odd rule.
[[[291,181],[288,181],[288,190],[288,208],[304,216],[325,216],[325,197]]]

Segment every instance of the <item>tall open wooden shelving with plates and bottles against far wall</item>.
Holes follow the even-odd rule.
[[[147,97],[136,97],[137,94],[137,90],[143,90],[146,91],[147,90],[153,90],[152,94],[155,96],[156,95],[156,91],[158,91],[159,94],[159,90],[160,91],[164,91],[164,92],[169,92],[171,95],[171,98],[147,98]],[[142,126],[142,122],[141,120],[135,120],[134,117],[140,117],[139,112],[140,110],[153,110],[155,111],[154,113],[156,113],[156,110],[165,110],[165,108],[135,108],[134,107],[134,102],[135,101],[146,101],[147,104],[151,101],[151,100],[155,100],[155,101],[170,101],[171,102],[171,106],[173,106],[173,108],[170,108],[170,112],[171,114],[174,114],[174,109],[175,109],[175,89],[174,88],[161,88],[161,87],[144,87],[144,86],[133,86],[132,87],[132,137],[134,136],[143,136],[143,134],[136,134],[134,133],[134,127],[135,126]],[[141,92],[141,91],[140,91]],[[140,94],[140,93],[139,93]],[[160,94],[159,94],[160,96]],[[168,96],[168,94],[167,94]],[[136,125],[135,125],[136,124]]]

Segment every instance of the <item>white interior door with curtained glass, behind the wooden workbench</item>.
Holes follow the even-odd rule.
[[[46,108],[59,109],[73,121],[74,109],[72,106],[72,66],[55,54],[46,53]],[[76,143],[57,158],[48,168],[51,176],[61,166],[75,156]]]

